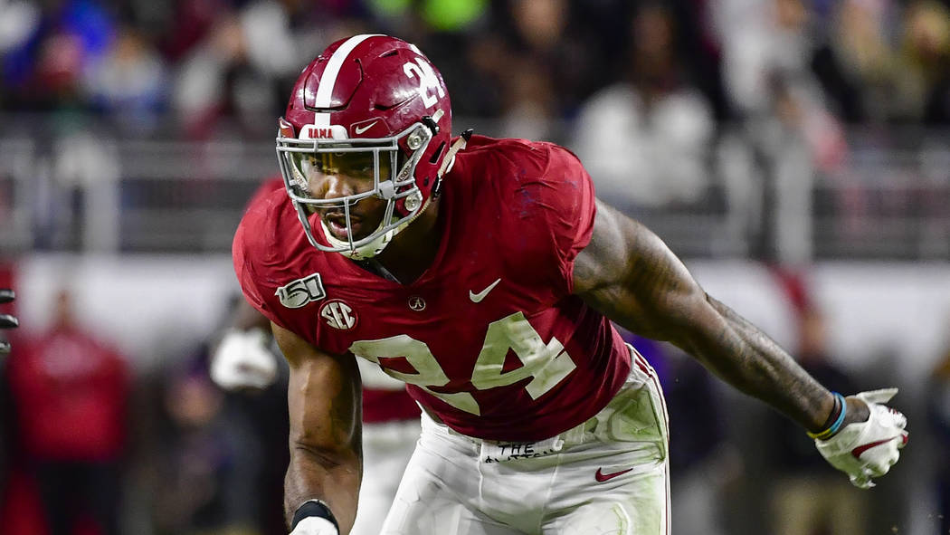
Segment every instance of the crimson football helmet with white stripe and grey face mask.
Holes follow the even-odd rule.
[[[321,251],[371,258],[428,206],[448,152],[451,106],[428,58],[388,35],[355,35],[326,48],[303,69],[284,117],[277,157],[307,239]],[[352,195],[322,199],[316,174],[361,179]],[[351,192],[346,192],[351,193]],[[369,197],[386,201],[379,226],[353,237],[351,209]],[[345,222],[345,239],[321,212]],[[314,234],[314,225],[323,232]],[[360,232],[362,233],[362,231]]]

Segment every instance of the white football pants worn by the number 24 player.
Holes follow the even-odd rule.
[[[531,444],[472,438],[422,416],[383,535],[669,535],[666,405],[636,351],[614,399]]]

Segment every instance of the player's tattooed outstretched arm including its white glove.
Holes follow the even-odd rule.
[[[906,420],[881,405],[883,396],[849,396],[842,405],[768,335],[707,296],[653,232],[601,202],[591,242],[575,263],[574,291],[624,328],[674,343],[733,387],[821,434],[819,450],[859,487],[897,462]],[[844,451],[856,463],[845,467],[822,448],[835,442],[846,444],[834,454]]]

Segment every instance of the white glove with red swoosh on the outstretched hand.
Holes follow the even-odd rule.
[[[887,473],[907,444],[906,416],[883,405],[896,393],[892,388],[856,394],[870,411],[867,421],[852,422],[827,440],[815,440],[826,461],[845,472],[855,487],[874,487],[871,479]]]

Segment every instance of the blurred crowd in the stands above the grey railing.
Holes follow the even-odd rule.
[[[693,137],[761,114],[815,143],[833,120],[950,124],[945,0],[8,0],[0,21],[3,110],[170,112],[193,135],[278,114],[315,50],[368,31],[423,48],[457,115],[528,137],[621,82]]]

